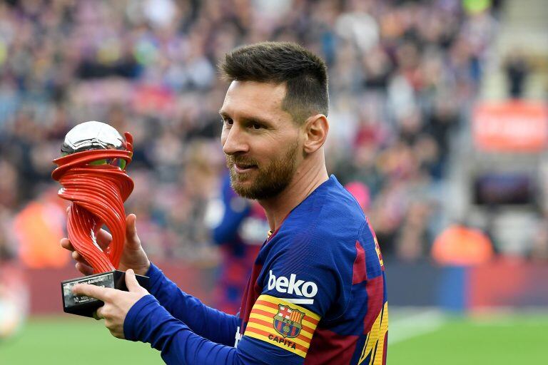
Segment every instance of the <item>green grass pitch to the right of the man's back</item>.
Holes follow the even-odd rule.
[[[392,322],[388,336],[393,330],[397,340],[402,326]],[[442,317],[429,331],[410,333],[388,341],[387,364],[548,364],[547,313]]]

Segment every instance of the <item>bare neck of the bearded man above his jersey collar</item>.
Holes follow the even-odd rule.
[[[321,163],[312,165],[303,163],[295,172],[289,185],[279,195],[258,200],[265,210],[270,230],[272,232],[277,230],[291,210],[328,179],[325,160],[322,159]]]

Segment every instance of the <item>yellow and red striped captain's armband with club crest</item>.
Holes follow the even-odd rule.
[[[305,357],[320,316],[308,309],[263,294],[253,304],[244,336]]]

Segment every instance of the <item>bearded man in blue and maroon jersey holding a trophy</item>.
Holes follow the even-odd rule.
[[[235,49],[220,69],[230,81],[220,109],[230,180],[258,200],[270,225],[238,317],[181,292],[151,264],[135,215],[120,265],[129,292],[73,291],[103,300],[96,317],[114,336],[151,343],[168,364],[385,364],[380,250],[360,206],[325,168],[325,63],[293,43],[268,42]],[[132,269],[151,278],[152,295]]]

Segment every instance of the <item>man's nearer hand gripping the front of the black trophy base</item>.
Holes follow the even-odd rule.
[[[112,288],[97,287],[91,284],[76,284],[72,288],[74,294],[87,295],[105,302],[95,314],[96,319],[105,319],[105,327],[118,339],[125,339],[123,335],[123,321],[133,304],[148,294],[145,288],[137,282],[132,269],[126,271],[126,286],[129,292]]]

